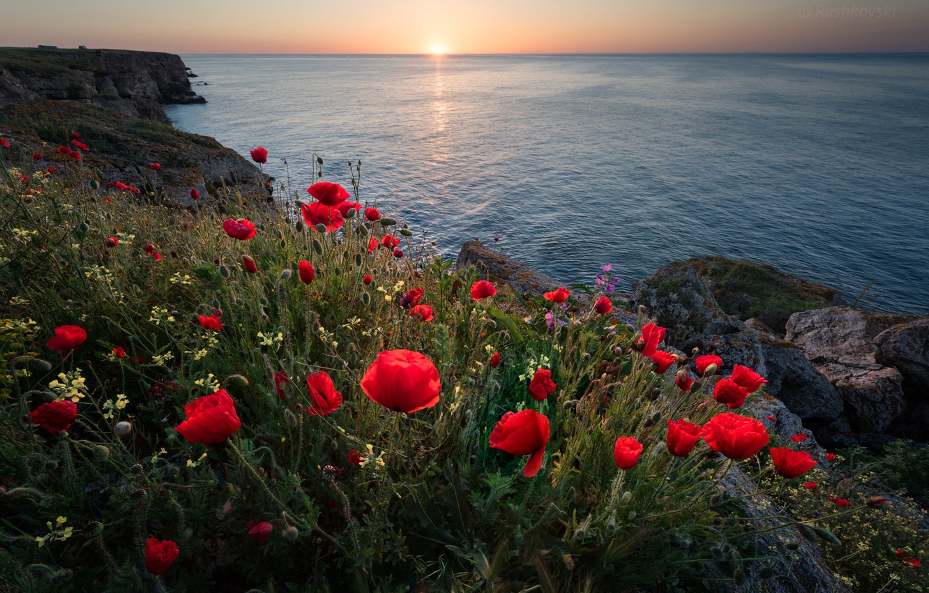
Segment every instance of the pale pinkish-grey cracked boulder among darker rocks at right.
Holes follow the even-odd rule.
[[[850,426],[857,432],[883,432],[903,412],[903,377],[877,362],[875,332],[889,316],[868,316],[844,307],[795,313],[787,339],[842,396]]]

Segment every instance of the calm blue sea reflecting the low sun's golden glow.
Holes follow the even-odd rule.
[[[738,257],[929,312],[929,54],[185,55],[177,128],[560,283]]]

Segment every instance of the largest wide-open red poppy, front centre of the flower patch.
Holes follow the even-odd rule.
[[[385,350],[361,378],[361,390],[388,410],[411,414],[438,403],[438,369],[424,354]]]

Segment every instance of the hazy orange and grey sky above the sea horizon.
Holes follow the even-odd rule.
[[[0,0],[0,46],[197,53],[929,51],[926,0]]]

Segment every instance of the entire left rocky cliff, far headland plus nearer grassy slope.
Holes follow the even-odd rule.
[[[253,163],[170,125],[163,104],[205,100],[187,72],[170,54],[0,48],[0,136],[23,168],[121,182],[166,204],[192,204],[191,188],[202,200],[227,191],[268,199],[270,178]],[[80,160],[58,151],[73,148],[72,133],[88,147]]]

